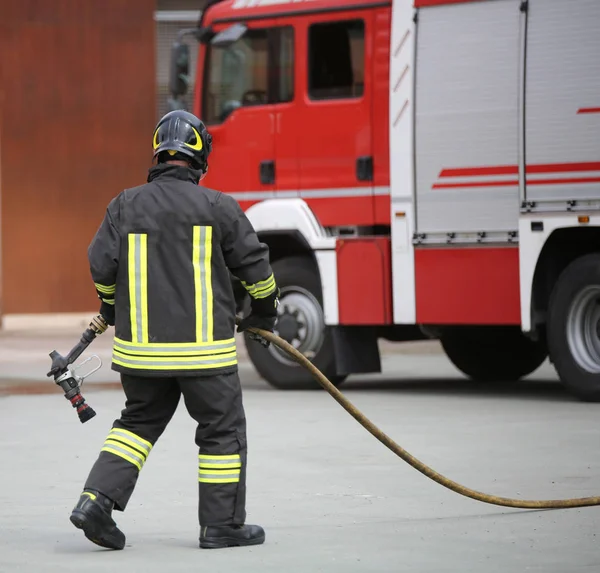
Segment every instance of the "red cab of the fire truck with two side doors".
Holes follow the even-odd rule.
[[[325,227],[389,225],[389,19],[377,0],[208,7],[211,34],[244,31],[200,48],[193,111],[214,138],[206,184],[243,208],[302,196]]]

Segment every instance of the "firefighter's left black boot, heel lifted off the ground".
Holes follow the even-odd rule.
[[[96,545],[123,549],[125,535],[111,517],[114,503],[97,491],[85,490],[71,513],[71,523]]]

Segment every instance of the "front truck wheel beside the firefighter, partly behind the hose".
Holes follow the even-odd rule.
[[[345,376],[336,376],[333,342],[325,327],[321,280],[308,257],[289,257],[272,264],[281,291],[275,333],[302,352],[336,386]],[[250,360],[258,373],[280,389],[320,388],[310,373],[271,344],[264,348],[245,337]]]

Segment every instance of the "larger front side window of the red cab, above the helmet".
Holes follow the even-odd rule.
[[[209,46],[202,110],[206,123],[222,123],[240,107],[290,101],[293,41],[291,27],[250,29],[228,48]]]

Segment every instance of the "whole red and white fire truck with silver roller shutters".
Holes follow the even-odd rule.
[[[278,334],[335,384],[379,372],[380,339],[437,339],[475,381],[549,357],[600,400],[599,29],[598,0],[204,2],[172,101],[191,34],[203,183],[270,248]]]

